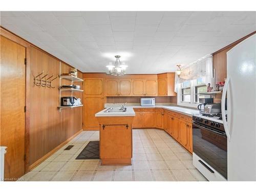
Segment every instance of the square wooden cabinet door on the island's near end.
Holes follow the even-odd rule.
[[[126,125],[105,125],[100,127],[100,158],[131,158],[132,129]]]

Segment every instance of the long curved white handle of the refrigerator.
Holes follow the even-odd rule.
[[[228,127],[229,123],[226,120],[225,100],[226,100],[227,89],[229,87],[229,82],[230,82],[230,77],[227,77],[225,85],[224,85],[223,93],[222,93],[222,98],[221,98],[221,115],[222,115],[222,119],[223,119],[224,130],[226,132],[228,141],[230,141],[230,133],[229,133],[230,127]],[[230,109],[227,109],[227,110],[230,110]],[[228,117],[228,119],[230,119],[230,118],[231,117]]]

